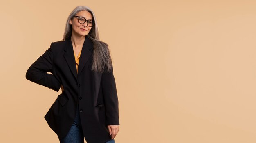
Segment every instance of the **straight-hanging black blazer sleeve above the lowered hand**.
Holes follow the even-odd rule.
[[[119,125],[118,97],[113,68],[110,72],[104,72],[101,77],[103,98],[105,101],[106,124]]]

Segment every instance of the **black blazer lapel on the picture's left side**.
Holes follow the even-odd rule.
[[[65,44],[65,48],[64,48],[65,50],[64,58],[67,61],[67,65],[70,67],[72,74],[77,80],[76,62],[75,62],[73,46],[70,39],[66,40],[66,42],[67,43]]]

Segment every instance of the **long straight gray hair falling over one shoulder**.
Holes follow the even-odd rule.
[[[94,22],[92,29],[88,33],[87,37],[92,40],[93,43],[93,61],[92,61],[92,70],[96,72],[110,72],[112,68],[112,61],[110,52],[108,49],[108,44],[99,40],[99,31],[98,24],[94,12],[87,6],[77,6],[68,16],[65,32],[63,35],[62,41],[71,38],[72,26],[69,24],[69,21],[79,13],[80,11],[88,11],[92,15],[92,21]]]

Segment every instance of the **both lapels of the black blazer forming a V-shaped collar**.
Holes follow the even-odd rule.
[[[83,48],[81,51],[81,56],[80,56],[79,64],[78,64],[78,73],[76,72],[76,63],[75,63],[74,50],[73,50],[71,39],[67,39],[65,41],[64,50],[65,50],[64,58],[67,62],[67,65],[70,67],[71,72],[73,73],[73,75],[75,76],[75,78],[77,80],[85,63],[88,61],[88,59],[92,55],[93,43],[88,38],[88,36],[85,36],[85,41],[83,43]]]

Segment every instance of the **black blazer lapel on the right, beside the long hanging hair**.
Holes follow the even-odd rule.
[[[90,56],[92,55],[93,43],[92,41],[86,36],[85,41],[83,43],[83,48],[81,51],[79,64],[78,64],[78,75],[80,75],[85,63],[89,60]]]

